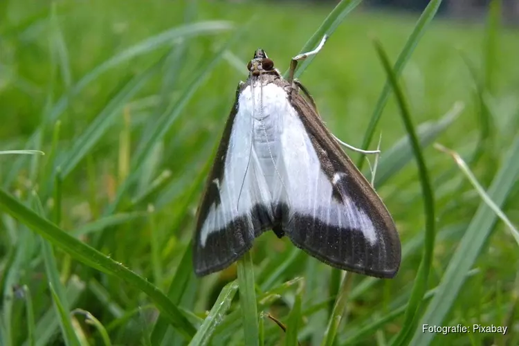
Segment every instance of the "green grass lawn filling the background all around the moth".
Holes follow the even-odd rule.
[[[519,224],[519,29],[499,1],[486,21],[428,25],[439,1],[419,22],[359,2],[0,2],[0,345],[516,344],[421,325],[519,334],[518,246],[492,210]],[[271,233],[194,277],[194,214],[246,61],[261,47],[286,71],[323,33],[298,78],[338,138],[374,149],[382,132],[397,277],[341,284]]]

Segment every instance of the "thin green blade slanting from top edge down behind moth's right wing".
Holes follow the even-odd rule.
[[[394,63],[392,71],[397,80],[400,77],[403,68],[409,61],[412,52],[415,51],[415,48],[418,42],[420,41],[421,37],[426,32],[426,28],[430,24],[430,21],[432,21],[432,18],[435,17],[440,5],[441,0],[431,0],[428,3],[424,12],[422,12],[420,18],[417,21],[417,24],[415,25],[415,28],[412,30],[411,35],[409,36],[406,44],[403,46],[403,49],[399,54],[399,57],[397,58],[397,62]],[[367,130],[362,141],[361,149],[367,149],[367,147],[370,147],[371,140],[376,131],[376,125],[379,123],[379,120],[382,116],[382,111],[384,110],[385,103],[388,102],[391,90],[391,84],[388,80],[387,82],[385,82],[384,88],[382,89],[382,92],[379,96],[379,100],[377,100],[376,102],[375,109],[371,116],[370,124],[367,125]],[[361,156],[358,159],[357,167],[359,170],[361,170],[361,168],[363,167],[364,161],[365,160],[363,156]]]

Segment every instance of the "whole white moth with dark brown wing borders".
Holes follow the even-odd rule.
[[[287,79],[262,49],[248,62],[197,211],[198,276],[230,266],[266,230],[330,266],[396,275],[401,244],[388,209],[293,78],[326,39],[292,58]]]

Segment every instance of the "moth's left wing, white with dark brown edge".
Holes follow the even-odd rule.
[[[199,276],[235,262],[272,227],[271,195],[251,146],[251,114],[238,107],[239,89],[197,212],[193,266]]]

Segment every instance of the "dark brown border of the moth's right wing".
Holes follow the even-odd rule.
[[[401,244],[390,212],[309,102],[296,90],[290,93],[289,101],[300,115],[329,179],[336,172],[346,173],[334,185],[372,220],[377,242],[371,245],[361,230],[330,226],[309,215],[284,219],[284,231],[296,246],[331,266],[374,277],[394,277],[400,266]]]

